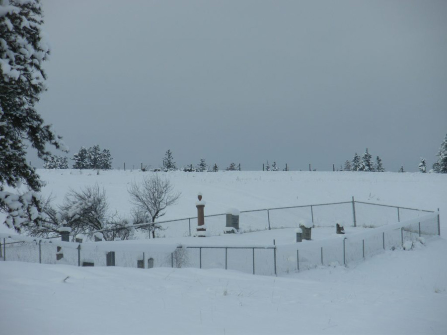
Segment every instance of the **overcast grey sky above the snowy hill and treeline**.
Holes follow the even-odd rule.
[[[368,147],[416,171],[447,134],[444,0],[42,3],[38,111],[70,157],[321,171]]]

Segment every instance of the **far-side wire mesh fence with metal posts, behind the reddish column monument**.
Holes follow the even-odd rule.
[[[312,222],[314,227],[335,227],[336,223],[340,223],[342,226],[374,228],[433,212],[433,210],[426,209],[355,201],[352,197],[351,201],[242,210],[239,214],[239,227],[240,232],[294,228],[299,227],[300,221],[303,220]],[[205,215],[207,236],[224,233],[226,215],[226,213]],[[197,216],[138,224],[133,227],[142,228],[154,225],[161,228],[156,231],[158,237],[194,236],[197,229]],[[104,229],[100,232],[103,231],[113,231],[113,229]]]

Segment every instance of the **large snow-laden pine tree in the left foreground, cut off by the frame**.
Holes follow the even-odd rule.
[[[68,151],[35,109],[46,90],[42,63],[50,54],[41,36],[42,17],[40,0],[0,1],[0,211],[6,213],[5,224],[17,231],[42,219],[37,194],[42,183],[26,161],[28,143],[44,160],[51,156],[47,143]],[[31,191],[3,191],[22,183]]]

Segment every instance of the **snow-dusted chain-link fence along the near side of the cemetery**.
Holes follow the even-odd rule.
[[[222,268],[277,275],[319,265],[347,265],[384,250],[401,248],[406,241],[440,234],[439,212],[329,240],[270,246],[73,243],[0,234],[3,238],[0,258],[3,261],[74,266]]]

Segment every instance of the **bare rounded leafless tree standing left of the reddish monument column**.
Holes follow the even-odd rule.
[[[165,214],[167,206],[175,204],[181,193],[174,192],[174,186],[169,179],[158,174],[145,177],[141,184],[132,183],[129,190],[131,202],[143,213],[148,213],[152,222]],[[152,230],[152,237],[155,232]]]

